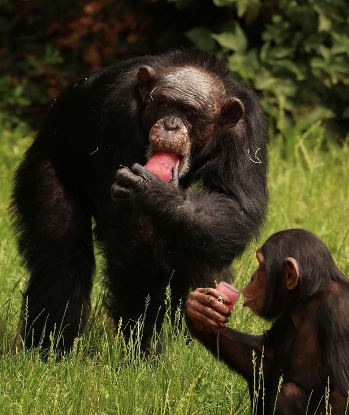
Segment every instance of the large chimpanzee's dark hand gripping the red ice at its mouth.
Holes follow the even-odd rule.
[[[170,184],[163,182],[154,173],[151,173],[144,166],[140,164],[133,164],[130,167],[119,169],[115,174],[116,183],[112,185],[112,199],[128,198],[135,193],[147,189],[150,185],[172,186],[173,189],[178,190],[179,187],[179,173],[178,168],[172,168],[172,181]]]

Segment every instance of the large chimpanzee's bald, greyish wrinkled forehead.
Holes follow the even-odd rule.
[[[162,79],[161,86],[173,93],[177,91],[180,95],[200,97],[208,102],[222,98],[225,93],[223,83],[218,77],[191,67],[171,68]]]

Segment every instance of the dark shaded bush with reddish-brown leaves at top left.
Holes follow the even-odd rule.
[[[152,22],[155,8],[161,22],[162,14],[176,8],[156,3],[0,2],[1,112],[14,123],[14,117],[24,117],[37,126],[43,107],[67,84],[121,59],[176,46],[172,28],[166,24],[159,32],[158,21]],[[189,44],[184,34],[183,39],[182,45]]]

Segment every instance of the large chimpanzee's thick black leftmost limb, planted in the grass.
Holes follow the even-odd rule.
[[[80,200],[79,200],[80,199]],[[13,191],[18,247],[29,270],[22,309],[27,347],[69,350],[90,312],[95,269],[91,215],[78,190],[68,189],[48,156],[33,146],[19,167]],[[45,333],[43,330],[45,329]]]

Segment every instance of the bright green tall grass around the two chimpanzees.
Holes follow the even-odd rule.
[[[163,355],[135,357],[138,345],[125,344],[100,305],[100,271],[91,323],[74,351],[60,361],[51,354],[47,362],[23,351],[17,324],[26,271],[16,253],[7,205],[14,166],[31,139],[25,125],[11,132],[0,125],[0,413],[250,413],[244,380],[197,341],[186,345],[176,324],[165,321]],[[287,146],[272,140],[270,214],[260,240],[234,264],[238,288],[256,267],[256,248],[272,232],[291,227],[316,233],[348,274],[348,156],[349,146],[331,145],[320,125],[304,136],[291,135]],[[242,302],[239,298],[230,325],[253,334],[265,330],[267,324],[243,309]]]

